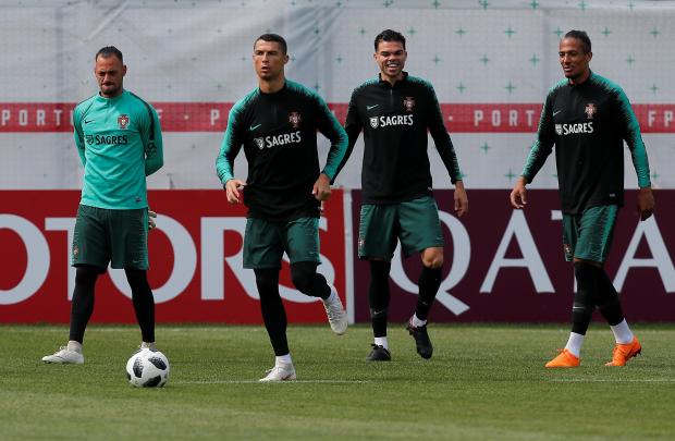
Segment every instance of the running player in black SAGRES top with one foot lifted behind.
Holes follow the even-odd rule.
[[[340,335],[347,329],[347,316],[335,287],[317,272],[321,262],[320,205],[331,194],[330,184],[344,156],[347,136],[315,91],[285,78],[289,56],[283,37],[258,37],[253,61],[258,87],[230,111],[216,168],[228,201],[244,201],[248,207],[244,268],[253,269],[256,275],[262,320],[277,356],[274,367],[260,381],[294,380],[286,313],[279,295],[284,252],[291,260],[295,287],[323,301],[333,332]],[[317,131],[331,142],[322,171]],[[233,174],[242,145],[248,162],[246,182]]]

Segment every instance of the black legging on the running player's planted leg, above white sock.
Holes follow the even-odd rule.
[[[286,310],[279,295],[279,269],[255,269],[256,285],[260,295],[260,311],[265,329],[270,336],[270,343],[274,355],[289,354],[289,340],[286,339]]]

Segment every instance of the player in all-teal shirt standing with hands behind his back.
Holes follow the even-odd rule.
[[[42,362],[84,363],[82,343],[94,311],[94,289],[108,265],[124,268],[140,326],[140,347],[155,350],[155,299],[148,269],[146,176],[163,164],[157,112],[123,87],[126,65],[112,46],[95,57],[99,93],[73,113],[75,146],[84,167],[75,220],[72,265],[76,267],[70,341]],[[154,213],[150,212],[150,216]]]

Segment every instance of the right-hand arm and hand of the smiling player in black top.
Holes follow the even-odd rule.
[[[466,196],[466,191],[464,189],[464,181],[462,181],[462,171],[459,170],[457,154],[455,152],[455,147],[452,144],[447,128],[445,128],[441,106],[439,105],[435,91],[431,85],[429,85],[429,133],[431,134],[435,148],[441,156],[441,160],[450,174],[450,180],[455,185],[454,208],[457,216],[462,217],[469,211],[469,199]]]

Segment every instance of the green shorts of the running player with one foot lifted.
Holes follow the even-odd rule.
[[[284,252],[291,264],[321,264],[319,218],[299,218],[289,222],[270,222],[256,218],[246,220],[244,268],[281,268]]]

